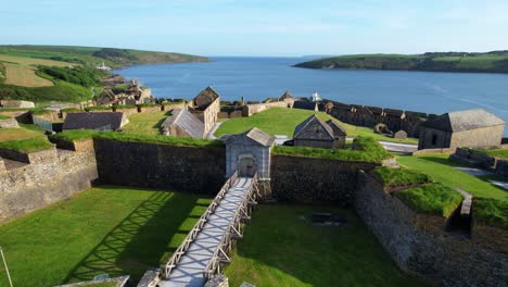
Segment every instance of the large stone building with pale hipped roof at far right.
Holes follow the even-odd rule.
[[[445,113],[421,124],[418,149],[499,147],[505,124],[483,109]]]

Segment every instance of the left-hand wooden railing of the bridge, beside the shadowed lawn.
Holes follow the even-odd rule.
[[[166,264],[163,265],[162,267],[163,278],[167,279],[169,277],[172,270],[178,264],[181,257],[187,252],[190,245],[192,244],[192,241],[194,241],[195,237],[198,237],[198,234],[200,233],[200,230],[203,228],[204,224],[208,220],[209,215],[212,215],[215,212],[215,209],[218,207],[220,200],[224,198],[224,196],[229,190],[229,188],[234,184],[237,178],[238,178],[238,172],[234,172],[234,174],[232,174],[231,177],[229,177],[228,180],[226,180],[224,186],[220,188],[220,191],[214,198],[212,203],[209,203],[208,208],[205,210],[203,215],[201,215],[201,217],[194,224],[192,229],[187,235],[186,239],[183,239],[183,242],[181,242],[180,246],[175,250],[172,258],[169,258]]]

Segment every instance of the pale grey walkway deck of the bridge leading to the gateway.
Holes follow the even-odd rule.
[[[204,272],[214,259],[223,237],[234,221],[239,209],[249,200],[251,177],[238,177],[219,201],[215,212],[209,215],[196,238],[180,258],[169,276],[158,283],[160,287],[203,286],[206,283]]]

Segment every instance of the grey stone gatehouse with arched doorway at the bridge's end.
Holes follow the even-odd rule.
[[[226,177],[238,171],[240,176],[257,172],[263,196],[270,196],[270,153],[275,137],[254,127],[226,140]]]

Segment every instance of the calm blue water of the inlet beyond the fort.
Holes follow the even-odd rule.
[[[224,100],[296,97],[441,114],[483,108],[508,121],[508,75],[403,71],[308,70],[302,58],[212,58],[211,63],[138,65],[115,71],[158,98],[193,98],[213,86]]]

